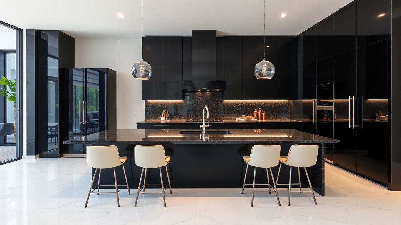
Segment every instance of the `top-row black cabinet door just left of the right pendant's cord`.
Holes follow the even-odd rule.
[[[254,68],[258,62],[262,61],[262,58],[260,58],[262,52],[261,40],[260,36],[245,36],[242,38],[243,68]]]

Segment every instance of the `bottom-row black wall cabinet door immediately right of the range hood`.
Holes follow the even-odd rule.
[[[225,68],[224,80],[226,81],[224,99],[242,99],[242,68]]]

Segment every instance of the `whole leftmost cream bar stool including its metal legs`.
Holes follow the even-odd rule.
[[[117,196],[117,207],[120,207],[120,202],[118,200],[118,186],[127,186],[128,194],[130,195],[130,187],[128,186],[127,174],[124,168],[124,162],[127,161],[128,157],[120,157],[118,153],[117,146],[87,146],[86,147],[86,161],[90,167],[96,168],[95,174],[93,174],[93,179],[91,187],[89,188],[88,197],[86,199],[85,208],[88,205],[89,195],[94,193],[97,189],[97,194],[99,193],[115,193]],[[126,179],[127,185],[117,185],[117,176],[115,175],[115,167],[122,165],[124,170],[124,177]],[[101,169],[113,168],[114,170],[114,185],[100,185],[100,175]],[[92,190],[93,182],[95,181],[97,170],[99,169],[99,180],[97,186]],[[115,186],[115,192],[99,192],[100,186]]]

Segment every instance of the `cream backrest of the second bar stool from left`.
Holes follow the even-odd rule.
[[[136,145],[135,164],[142,168],[157,168],[167,165],[166,153],[162,145]]]

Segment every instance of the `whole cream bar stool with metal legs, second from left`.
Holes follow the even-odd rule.
[[[170,194],[172,194],[171,191],[171,185],[170,185],[170,177],[168,176],[168,171],[167,171],[167,164],[170,162],[170,156],[166,156],[166,153],[164,152],[164,147],[162,145],[151,145],[151,146],[144,146],[144,145],[136,145],[134,149],[134,158],[135,158],[135,164],[138,165],[139,167],[142,167],[142,173],[141,173],[141,178],[139,180],[139,185],[138,185],[138,192],[136,195],[135,199],[135,205],[138,202],[138,195],[141,191],[141,184],[142,184],[142,177],[144,175],[145,171],[145,178],[144,178],[144,185],[142,188],[144,189],[144,194],[145,194],[145,186],[146,185],[153,185],[153,186],[160,186],[158,184],[145,184],[146,181],[146,170],[150,168],[159,168],[160,171],[160,181],[161,181],[161,186],[162,186],[162,191],[161,192],[146,192],[146,193],[163,193],[163,202],[164,202],[164,207],[166,207],[166,198],[164,197],[164,186],[166,184],[163,184],[163,177],[162,177],[162,167],[166,167],[166,173],[167,173],[167,180],[168,180],[168,187],[170,188]]]

